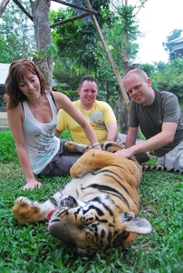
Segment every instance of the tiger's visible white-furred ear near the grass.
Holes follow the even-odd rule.
[[[137,234],[149,234],[152,232],[152,226],[145,218],[136,217],[132,212],[122,212],[122,226],[127,232]]]

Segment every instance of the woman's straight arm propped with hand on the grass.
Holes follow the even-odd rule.
[[[24,189],[33,189],[35,186],[41,187],[41,183],[36,181],[34,173],[31,167],[31,162],[29,159],[27,147],[24,139],[23,131],[23,120],[24,120],[24,111],[19,104],[11,110],[7,111],[7,118],[10,129],[14,136],[14,142],[16,146],[17,155],[21,164],[21,167],[24,171],[24,176],[26,178],[26,185]]]

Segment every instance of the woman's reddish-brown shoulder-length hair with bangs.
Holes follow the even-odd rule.
[[[38,76],[41,94],[43,95],[48,91],[42,72],[32,62],[25,59],[14,61],[9,67],[9,73],[5,80],[4,99],[8,103],[7,110],[18,106],[19,102],[22,103],[27,100],[27,97],[20,91],[18,83],[28,78],[30,72]]]

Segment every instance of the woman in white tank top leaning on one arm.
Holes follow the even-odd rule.
[[[42,72],[28,60],[14,61],[5,81],[7,118],[14,136],[17,154],[26,178],[24,189],[41,187],[34,177],[63,176],[82,156],[70,153],[65,141],[54,136],[57,111],[61,108],[83,128],[94,148],[97,138],[92,126],[62,93],[50,92]]]

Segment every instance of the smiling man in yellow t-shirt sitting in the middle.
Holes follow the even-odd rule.
[[[118,134],[116,116],[111,106],[103,101],[96,100],[98,94],[97,80],[93,76],[83,76],[78,88],[80,100],[72,104],[82,113],[82,115],[91,124],[97,140],[101,143],[104,140],[111,140],[124,145],[126,141],[125,134]],[[68,128],[74,142],[89,145],[82,126],[69,116],[63,109],[59,110],[57,115],[57,127],[54,131],[55,136],[60,136]],[[141,141],[140,139],[137,142]],[[97,143],[97,144],[99,144]],[[136,155],[137,160],[142,163],[149,160],[146,153]]]

